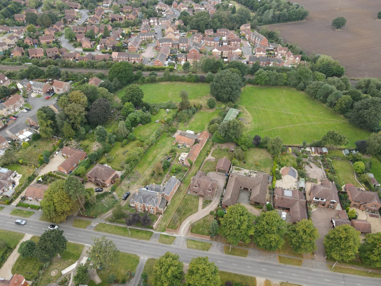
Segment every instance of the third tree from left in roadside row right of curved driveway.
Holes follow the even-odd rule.
[[[312,253],[317,249],[315,241],[319,238],[319,231],[310,220],[301,220],[291,224],[287,229],[287,240],[294,252]]]

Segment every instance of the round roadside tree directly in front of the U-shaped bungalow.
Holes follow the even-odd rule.
[[[279,217],[279,216],[278,216]],[[232,245],[250,242],[250,236],[254,234],[254,215],[250,214],[242,204],[235,204],[227,209],[226,214],[220,219],[218,233],[227,239]]]

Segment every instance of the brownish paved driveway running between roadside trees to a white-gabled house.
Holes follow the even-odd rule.
[[[317,250],[315,252],[315,260],[325,261],[325,251],[323,246],[324,236],[332,229],[331,218],[336,217],[337,210],[325,209],[317,207],[312,211],[311,219],[315,227],[319,231],[320,238],[316,239]]]

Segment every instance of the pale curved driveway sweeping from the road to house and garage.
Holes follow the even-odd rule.
[[[217,184],[217,191],[213,197],[213,200],[211,201],[208,206],[201,209],[200,211],[196,212],[195,214],[192,214],[191,216],[187,217],[180,225],[178,235],[186,236],[189,232],[189,229],[191,227],[191,222],[197,222],[197,220],[202,219],[205,217],[205,215],[208,215],[211,210],[215,210],[216,207],[219,204],[219,199],[221,197],[222,191],[224,190],[224,185],[226,181],[225,174],[216,173],[216,172],[209,172],[207,174],[207,177],[218,181]]]

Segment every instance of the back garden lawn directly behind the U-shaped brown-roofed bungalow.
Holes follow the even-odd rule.
[[[258,170],[270,173],[272,167],[271,154],[266,149],[250,148],[245,151],[246,164],[243,161],[239,161],[236,167],[240,167],[248,170]]]

